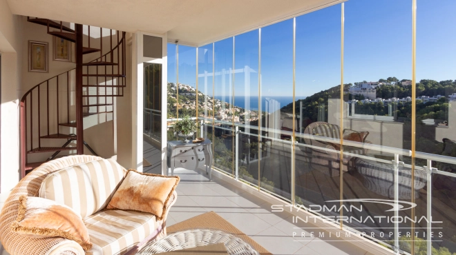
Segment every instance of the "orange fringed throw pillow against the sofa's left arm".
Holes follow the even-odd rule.
[[[81,216],[70,207],[46,198],[20,196],[17,221],[12,223],[11,229],[31,238],[60,236],[79,243],[85,251],[92,249]]]

